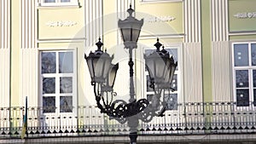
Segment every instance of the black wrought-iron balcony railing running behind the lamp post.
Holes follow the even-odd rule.
[[[140,121],[138,135],[241,134],[256,132],[256,111],[237,107],[235,102],[196,102],[178,104],[163,117],[149,123]],[[97,107],[73,108],[71,113],[44,113],[42,107],[29,107],[26,137],[127,135],[127,124],[119,124]],[[24,107],[0,107],[0,139],[20,138]]]

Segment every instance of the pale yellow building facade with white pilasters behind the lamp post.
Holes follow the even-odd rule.
[[[28,107],[43,107],[40,111],[44,117],[77,118],[90,113],[81,111],[81,107],[96,106],[84,55],[96,50],[99,37],[103,49],[114,55],[113,62],[119,62],[113,87],[118,95],[115,99],[128,101],[129,55],[124,49],[118,20],[126,18],[130,4],[135,17],[144,20],[134,50],[138,99],[153,95],[147,84],[143,55],[155,49],[159,37],[164,49],[177,61],[174,91],[163,98],[168,104],[166,115],[189,110],[210,112],[210,116],[198,120],[208,124],[225,119],[221,114],[216,118],[212,114],[221,103],[228,107],[219,111],[253,112],[256,106],[254,0],[1,0],[0,108],[25,107],[27,97]],[[191,103],[201,107],[190,109]],[[186,108],[178,108],[183,105]],[[0,114],[2,131],[10,125],[19,125],[3,120],[11,115]],[[254,124],[253,116],[246,118]],[[68,123],[87,124],[79,118],[82,120]],[[175,117],[169,122],[192,124],[194,118]],[[106,119],[98,120],[99,124],[112,123]],[[45,121],[50,125],[49,119]],[[156,118],[151,122],[154,123],[160,120]]]

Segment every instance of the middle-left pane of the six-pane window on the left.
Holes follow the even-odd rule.
[[[43,94],[55,94],[55,78],[43,78]]]

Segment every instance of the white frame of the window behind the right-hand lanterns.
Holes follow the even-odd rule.
[[[152,49],[155,50],[155,48],[144,48],[143,49],[143,53],[145,53],[146,49]],[[160,48],[161,49],[161,48]],[[182,78],[182,72],[183,72],[183,68],[182,68],[182,62],[183,62],[183,58],[182,58],[182,45],[181,44],[170,44],[168,46],[165,46],[165,49],[177,49],[177,71],[175,71],[174,74],[177,74],[177,91],[170,91],[170,94],[177,94],[177,104],[183,102],[183,78]],[[170,54],[171,55],[171,54]],[[143,65],[143,70],[145,69],[145,66]],[[148,76],[148,72],[143,71],[144,72],[144,89],[145,89],[145,96],[147,95],[154,95],[154,91],[147,91],[147,76]],[[165,95],[169,94],[169,91],[166,91]],[[178,111],[178,107],[177,109],[173,109],[173,110],[166,110],[166,112],[177,112]]]

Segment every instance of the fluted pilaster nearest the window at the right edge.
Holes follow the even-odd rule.
[[[212,0],[212,95],[213,101],[230,101],[230,43],[228,0]]]

